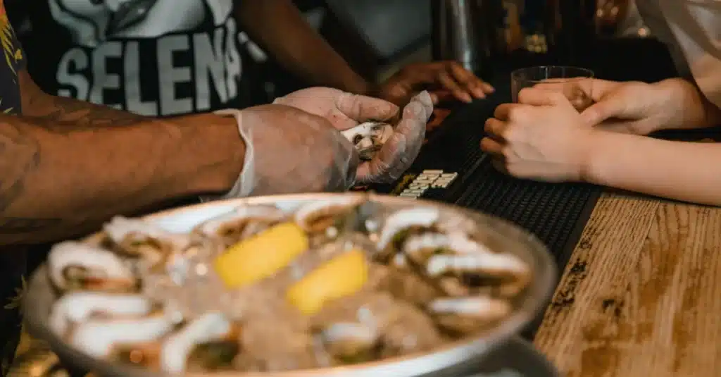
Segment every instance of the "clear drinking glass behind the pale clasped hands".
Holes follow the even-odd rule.
[[[592,84],[593,71],[575,66],[531,66],[510,73],[510,95],[514,103],[518,102],[521,89],[539,86],[563,92],[580,111],[593,103]]]

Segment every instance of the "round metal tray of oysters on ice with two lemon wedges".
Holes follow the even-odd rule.
[[[32,276],[32,335],[99,376],[423,376],[532,321],[556,268],[534,236],[375,194],[232,199],[115,217]]]

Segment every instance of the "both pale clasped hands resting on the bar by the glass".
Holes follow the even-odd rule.
[[[589,84],[544,82],[521,90],[518,103],[498,106],[486,121],[481,148],[510,175],[578,181],[585,178],[598,132],[645,135],[699,122],[683,116],[693,107],[689,101],[698,100],[692,84],[682,79],[658,84],[593,79]],[[590,100],[578,100],[580,88],[581,97]]]

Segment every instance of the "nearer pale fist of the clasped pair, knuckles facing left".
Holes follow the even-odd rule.
[[[582,181],[593,127],[562,92],[526,88],[518,103],[498,106],[485,123],[481,149],[518,178]]]

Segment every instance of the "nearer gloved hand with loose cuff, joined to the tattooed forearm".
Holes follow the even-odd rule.
[[[358,153],[326,119],[283,105],[218,110],[234,116],[246,145],[242,173],[223,198],[353,186]]]

